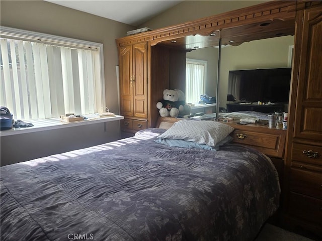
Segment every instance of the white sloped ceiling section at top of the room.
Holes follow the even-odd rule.
[[[183,1],[45,0],[124,24],[139,26]]]

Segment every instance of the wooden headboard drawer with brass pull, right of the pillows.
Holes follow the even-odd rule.
[[[285,135],[269,133],[269,129],[266,130],[267,133],[256,132],[256,128],[252,131],[235,129],[230,135],[234,143],[251,146],[271,157],[283,158]]]

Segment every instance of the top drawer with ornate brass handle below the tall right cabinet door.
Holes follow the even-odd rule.
[[[305,152],[312,151],[312,153],[318,153],[318,154],[316,154],[314,157],[314,154],[312,153],[305,154],[303,153],[303,151]],[[298,161],[302,163],[322,166],[322,147],[293,143],[291,159],[292,161]]]

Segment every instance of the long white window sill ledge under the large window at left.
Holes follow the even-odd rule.
[[[86,114],[84,115],[88,119],[85,121],[79,122],[64,122],[61,118],[50,118],[50,119],[34,119],[30,121],[26,121],[27,123],[32,123],[33,127],[27,128],[13,128],[6,131],[0,132],[0,137],[17,135],[17,134],[25,134],[25,133],[32,133],[32,132],[41,132],[41,131],[48,131],[60,128],[67,128],[67,127],[77,127],[77,126],[84,126],[90,124],[97,124],[97,123],[104,123],[104,122],[112,122],[118,121],[120,119],[124,119],[122,115],[116,115],[113,117],[99,117],[96,114]]]

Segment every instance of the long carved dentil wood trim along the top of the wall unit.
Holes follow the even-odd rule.
[[[272,21],[276,19],[295,19],[296,2],[297,1],[272,1],[263,3],[184,24],[123,37],[117,39],[116,42],[119,47],[144,41],[150,41],[150,45],[153,46],[165,40],[191,35],[194,36],[196,34],[207,36],[214,31],[220,31],[246,24]],[[304,8],[307,5],[307,1],[298,2],[300,2],[300,4],[304,2]]]

